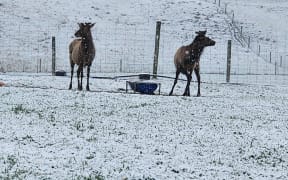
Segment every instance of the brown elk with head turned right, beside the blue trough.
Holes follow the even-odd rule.
[[[206,31],[196,32],[197,36],[193,42],[188,46],[180,47],[174,56],[174,64],[176,67],[176,78],[174,80],[173,87],[169,93],[171,96],[174,90],[174,87],[177,83],[180,73],[183,73],[187,77],[187,85],[184,91],[183,96],[190,96],[190,83],[192,80],[192,72],[195,71],[197,82],[198,82],[198,92],[197,96],[201,96],[200,93],[200,56],[203,53],[203,50],[207,46],[214,46],[215,41],[206,37]]]

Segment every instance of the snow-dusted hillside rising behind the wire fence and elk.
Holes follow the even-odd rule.
[[[238,1],[226,2],[229,3],[229,11],[234,8],[236,12],[235,5],[241,5]],[[285,2],[281,3],[287,5]],[[258,4],[262,3],[259,1]],[[195,31],[205,29],[217,44],[213,48],[207,48],[202,57],[202,72],[225,73],[226,44],[228,39],[233,39],[233,27],[229,25],[231,19],[223,13],[222,6],[219,8],[214,4],[214,0],[4,0],[0,9],[0,15],[3,17],[0,25],[2,71],[51,71],[52,36],[56,36],[57,69],[69,71],[67,47],[78,28],[78,22],[96,22],[93,36],[97,53],[93,72],[151,72],[157,20],[162,21],[160,73],[173,73],[175,70],[172,59],[176,49],[189,44],[195,36]],[[246,11],[242,11],[242,14],[253,13],[253,9],[246,8]],[[240,13],[237,12],[236,15],[240,21],[246,22]],[[255,26],[265,23],[253,24],[252,20],[258,22],[261,19],[252,18],[251,22],[247,21],[245,31],[255,37],[253,42],[258,42],[262,35],[271,32],[271,28],[264,27],[261,32],[256,31]],[[270,39],[268,46],[275,44],[272,35]],[[263,58],[247,51],[247,48],[241,47],[236,41],[233,42],[232,54],[232,73],[275,72],[274,63],[265,62]],[[286,62],[284,58],[286,56],[283,56],[283,62]],[[286,73],[280,67],[277,71],[281,74]]]

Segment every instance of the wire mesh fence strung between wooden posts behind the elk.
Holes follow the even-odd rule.
[[[171,26],[163,23],[161,28],[158,73],[174,77],[174,53],[180,46],[189,44],[193,35],[173,33]],[[37,32],[30,32],[25,25],[13,28],[16,30],[10,39],[0,37],[0,72],[51,72],[53,36],[56,38],[56,70],[70,72],[68,46],[77,26],[48,26]],[[92,73],[152,73],[155,25],[139,27],[116,23],[97,26],[92,32],[96,46]],[[227,39],[216,39],[216,42],[214,47],[207,47],[201,57],[201,74],[203,81],[222,83],[226,82]],[[287,85],[288,59],[282,55],[286,52],[262,49],[258,54],[251,53],[254,43],[250,39],[248,48],[233,40],[230,82]]]

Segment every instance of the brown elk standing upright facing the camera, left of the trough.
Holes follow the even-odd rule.
[[[91,28],[94,26],[94,24],[79,23],[78,25],[79,30],[75,33],[75,36],[81,39],[75,39],[69,45],[69,57],[71,65],[71,81],[69,89],[72,89],[74,66],[75,64],[77,64],[78,90],[82,90],[83,68],[87,66],[86,90],[90,91],[89,88],[90,67],[92,65],[96,52],[91,34]]]

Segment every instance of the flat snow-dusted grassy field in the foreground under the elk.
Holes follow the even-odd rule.
[[[94,92],[67,90],[68,77],[1,79],[0,178],[288,178],[286,86],[169,97],[165,79],[160,96],[124,93],[124,79],[93,79]]]

